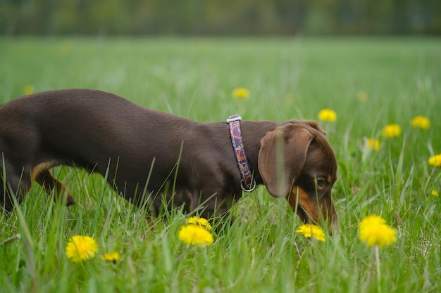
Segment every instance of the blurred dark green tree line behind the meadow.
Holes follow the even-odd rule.
[[[0,0],[2,34],[440,34],[440,0]]]

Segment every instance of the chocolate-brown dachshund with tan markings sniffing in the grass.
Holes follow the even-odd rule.
[[[337,162],[316,122],[243,121],[243,146],[257,184],[286,197],[299,217],[337,226],[331,199]],[[226,211],[242,195],[241,176],[226,123],[200,123],[142,108],[103,91],[35,93],[0,105],[0,204],[13,209],[31,181],[66,194],[49,169],[82,167],[107,174],[134,204],[158,211],[161,195],[204,216]]]

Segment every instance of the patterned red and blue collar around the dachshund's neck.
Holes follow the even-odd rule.
[[[240,187],[246,192],[251,192],[256,188],[256,181],[253,178],[253,174],[249,169],[247,155],[245,155],[245,148],[242,142],[242,131],[240,130],[240,120],[242,117],[239,115],[232,115],[228,117],[227,122],[230,126],[230,136],[232,142],[232,148],[235,150],[237,166],[239,167]]]

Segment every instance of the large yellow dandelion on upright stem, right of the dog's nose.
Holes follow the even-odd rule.
[[[397,241],[395,229],[388,226],[380,216],[366,216],[359,223],[359,229],[359,239],[368,247],[377,245],[383,248]]]

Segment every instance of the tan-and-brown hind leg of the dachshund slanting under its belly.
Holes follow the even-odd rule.
[[[39,185],[44,188],[44,191],[47,195],[50,195],[52,190],[55,189],[54,200],[56,202],[61,201],[63,199],[63,195],[66,194],[66,205],[70,206],[71,204],[75,204],[75,200],[73,200],[72,195],[70,195],[66,186],[58,181],[54,176],[52,176],[51,171],[49,169],[44,168],[36,168],[32,171],[32,177],[35,182],[39,183]]]

